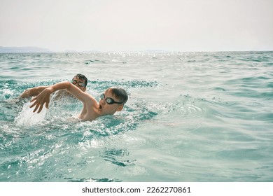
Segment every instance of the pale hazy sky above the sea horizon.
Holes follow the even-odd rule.
[[[0,0],[0,46],[273,50],[273,0]]]

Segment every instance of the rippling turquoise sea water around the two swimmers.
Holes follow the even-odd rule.
[[[0,181],[273,181],[273,52],[0,54]],[[78,123],[81,104],[32,113],[29,87],[89,79],[125,109]]]

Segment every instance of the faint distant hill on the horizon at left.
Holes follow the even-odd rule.
[[[41,52],[52,52],[46,48],[38,47],[2,47],[0,46],[0,53],[41,53]]]

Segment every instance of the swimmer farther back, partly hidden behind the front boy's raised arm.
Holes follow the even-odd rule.
[[[71,83],[73,85],[76,85],[76,87],[78,87],[83,92],[85,92],[85,90],[86,90],[87,82],[88,82],[88,80],[83,74],[77,74],[71,80]],[[19,98],[24,99],[27,97],[34,97],[34,96],[38,95],[40,92],[42,92],[43,90],[45,90],[45,88],[47,88],[47,87],[48,86],[38,86],[38,87],[29,88],[29,89],[25,90],[25,92],[23,92]],[[61,95],[68,95],[68,94],[65,91],[59,92],[59,94],[57,94],[57,97],[59,97]]]

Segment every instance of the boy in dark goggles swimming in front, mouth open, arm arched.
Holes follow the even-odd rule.
[[[50,94],[57,90],[67,90],[74,97],[83,102],[83,109],[79,114],[78,118],[82,121],[92,121],[99,116],[113,115],[116,111],[121,111],[124,104],[127,102],[128,95],[123,88],[110,87],[101,94],[99,102],[92,97],[92,95],[83,92],[76,85],[73,85],[69,81],[63,81],[45,87],[45,89],[40,92],[37,97],[31,99],[34,102],[30,108],[34,108],[33,112],[40,113],[45,104],[45,108],[48,109],[48,104],[50,102]]]

